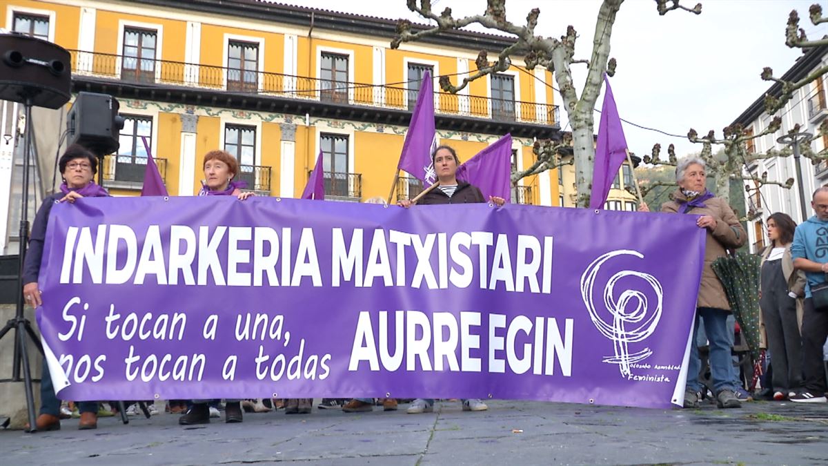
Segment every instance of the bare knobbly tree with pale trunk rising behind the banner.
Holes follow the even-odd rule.
[[[696,7],[687,8],[681,6],[680,0],[654,0],[654,2],[659,15],[667,14],[672,10],[685,10],[695,14],[701,12],[700,3]],[[615,15],[619,12],[622,3],[623,0],[604,0],[601,3],[595,22],[595,36],[589,60],[575,58],[575,41],[578,35],[574,27],[567,27],[566,34],[560,39],[536,35],[535,27],[537,27],[540,9],[532,9],[527,15],[526,23],[519,26],[506,19],[505,0],[488,0],[484,14],[460,19],[452,17],[451,8],[448,7],[440,15],[432,12],[431,0],[421,0],[419,6],[416,0],[407,0],[408,9],[436,22],[436,26],[413,32],[411,22],[400,20],[397,24],[397,36],[391,42],[391,46],[397,48],[402,42],[416,41],[425,36],[460,29],[470,24],[479,24],[514,36],[514,43],[500,51],[496,61],[489,61],[487,52],[481,51],[476,61],[477,71],[474,74],[465,77],[459,85],[452,85],[448,76],[441,76],[440,87],[448,92],[457,92],[473,80],[508,70],[510,66],[513,66],[512,56],[522,56],[527,70],[533,70],[536,66],[551,70],[555,74],[563,101],[562,106],[572,128],[575,185],[578,190],[577,205],[588,206],[595,158],[593,112],[595,102],[600,95],[604,73],[614,75],[615,61],[609,58],[609,41],[613,32]],[[572,65],[579,63],[585,64],[588,69],[580,94],[575,87],[570,70]],[[559,166],[560,148],[560,143],[537,144],[535,148],[538,156],[537,163],[532,164],[526,170],[513,173],[513,182]]]

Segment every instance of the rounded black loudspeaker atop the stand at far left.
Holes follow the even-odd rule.
[[[71,57],[65,48],[22,34],[0,34],[0,100],[59,109],[69,102]]]

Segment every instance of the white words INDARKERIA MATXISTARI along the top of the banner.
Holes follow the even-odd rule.
[[[323,277],[310,228],[293,235],[266,226],[72,226],[60,283],[466,289],[477,275],[480,289],[551,294],[551,236],[356,228],[346,244],[346,234],[330,230],[330,276]]]

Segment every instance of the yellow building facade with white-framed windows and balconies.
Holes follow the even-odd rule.
[[[476,70],[481,49],[507,37],[452,32],[390,47],[395,22],[270,2],[218,0],[6,0],[0,25],[69,50],[72,91],[113,95],[126,119],[118,153],[105,158],[103,185],[140,193],[147,151],[168,192],[201,187],[204,154],[233,153],[248,188],[299,197],[317,154],[326,197],[410,198],[421,187],[405,173],[392,187],[411,109],[429,70],[440,143],[461,160],[513,135],[513,167],[535,160],[536,138],[558,138],[552,75],[517,66],[457,84]],[[513,201],[573,206],[572,182],[550,170],[517,183]],[[563,202],[563,204],[561,204]]]

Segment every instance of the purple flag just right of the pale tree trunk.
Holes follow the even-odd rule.
[[[627,159],[627,140],[623,137],[619,109],[615,106],[613,90],[604,75],[607,89],[604,91],[604,107],[601,109],[601,123],[598,127],[598,142],[595,144],[595,167],[592,172],[592,196],[590,209],[603,209],[619,168]]]

